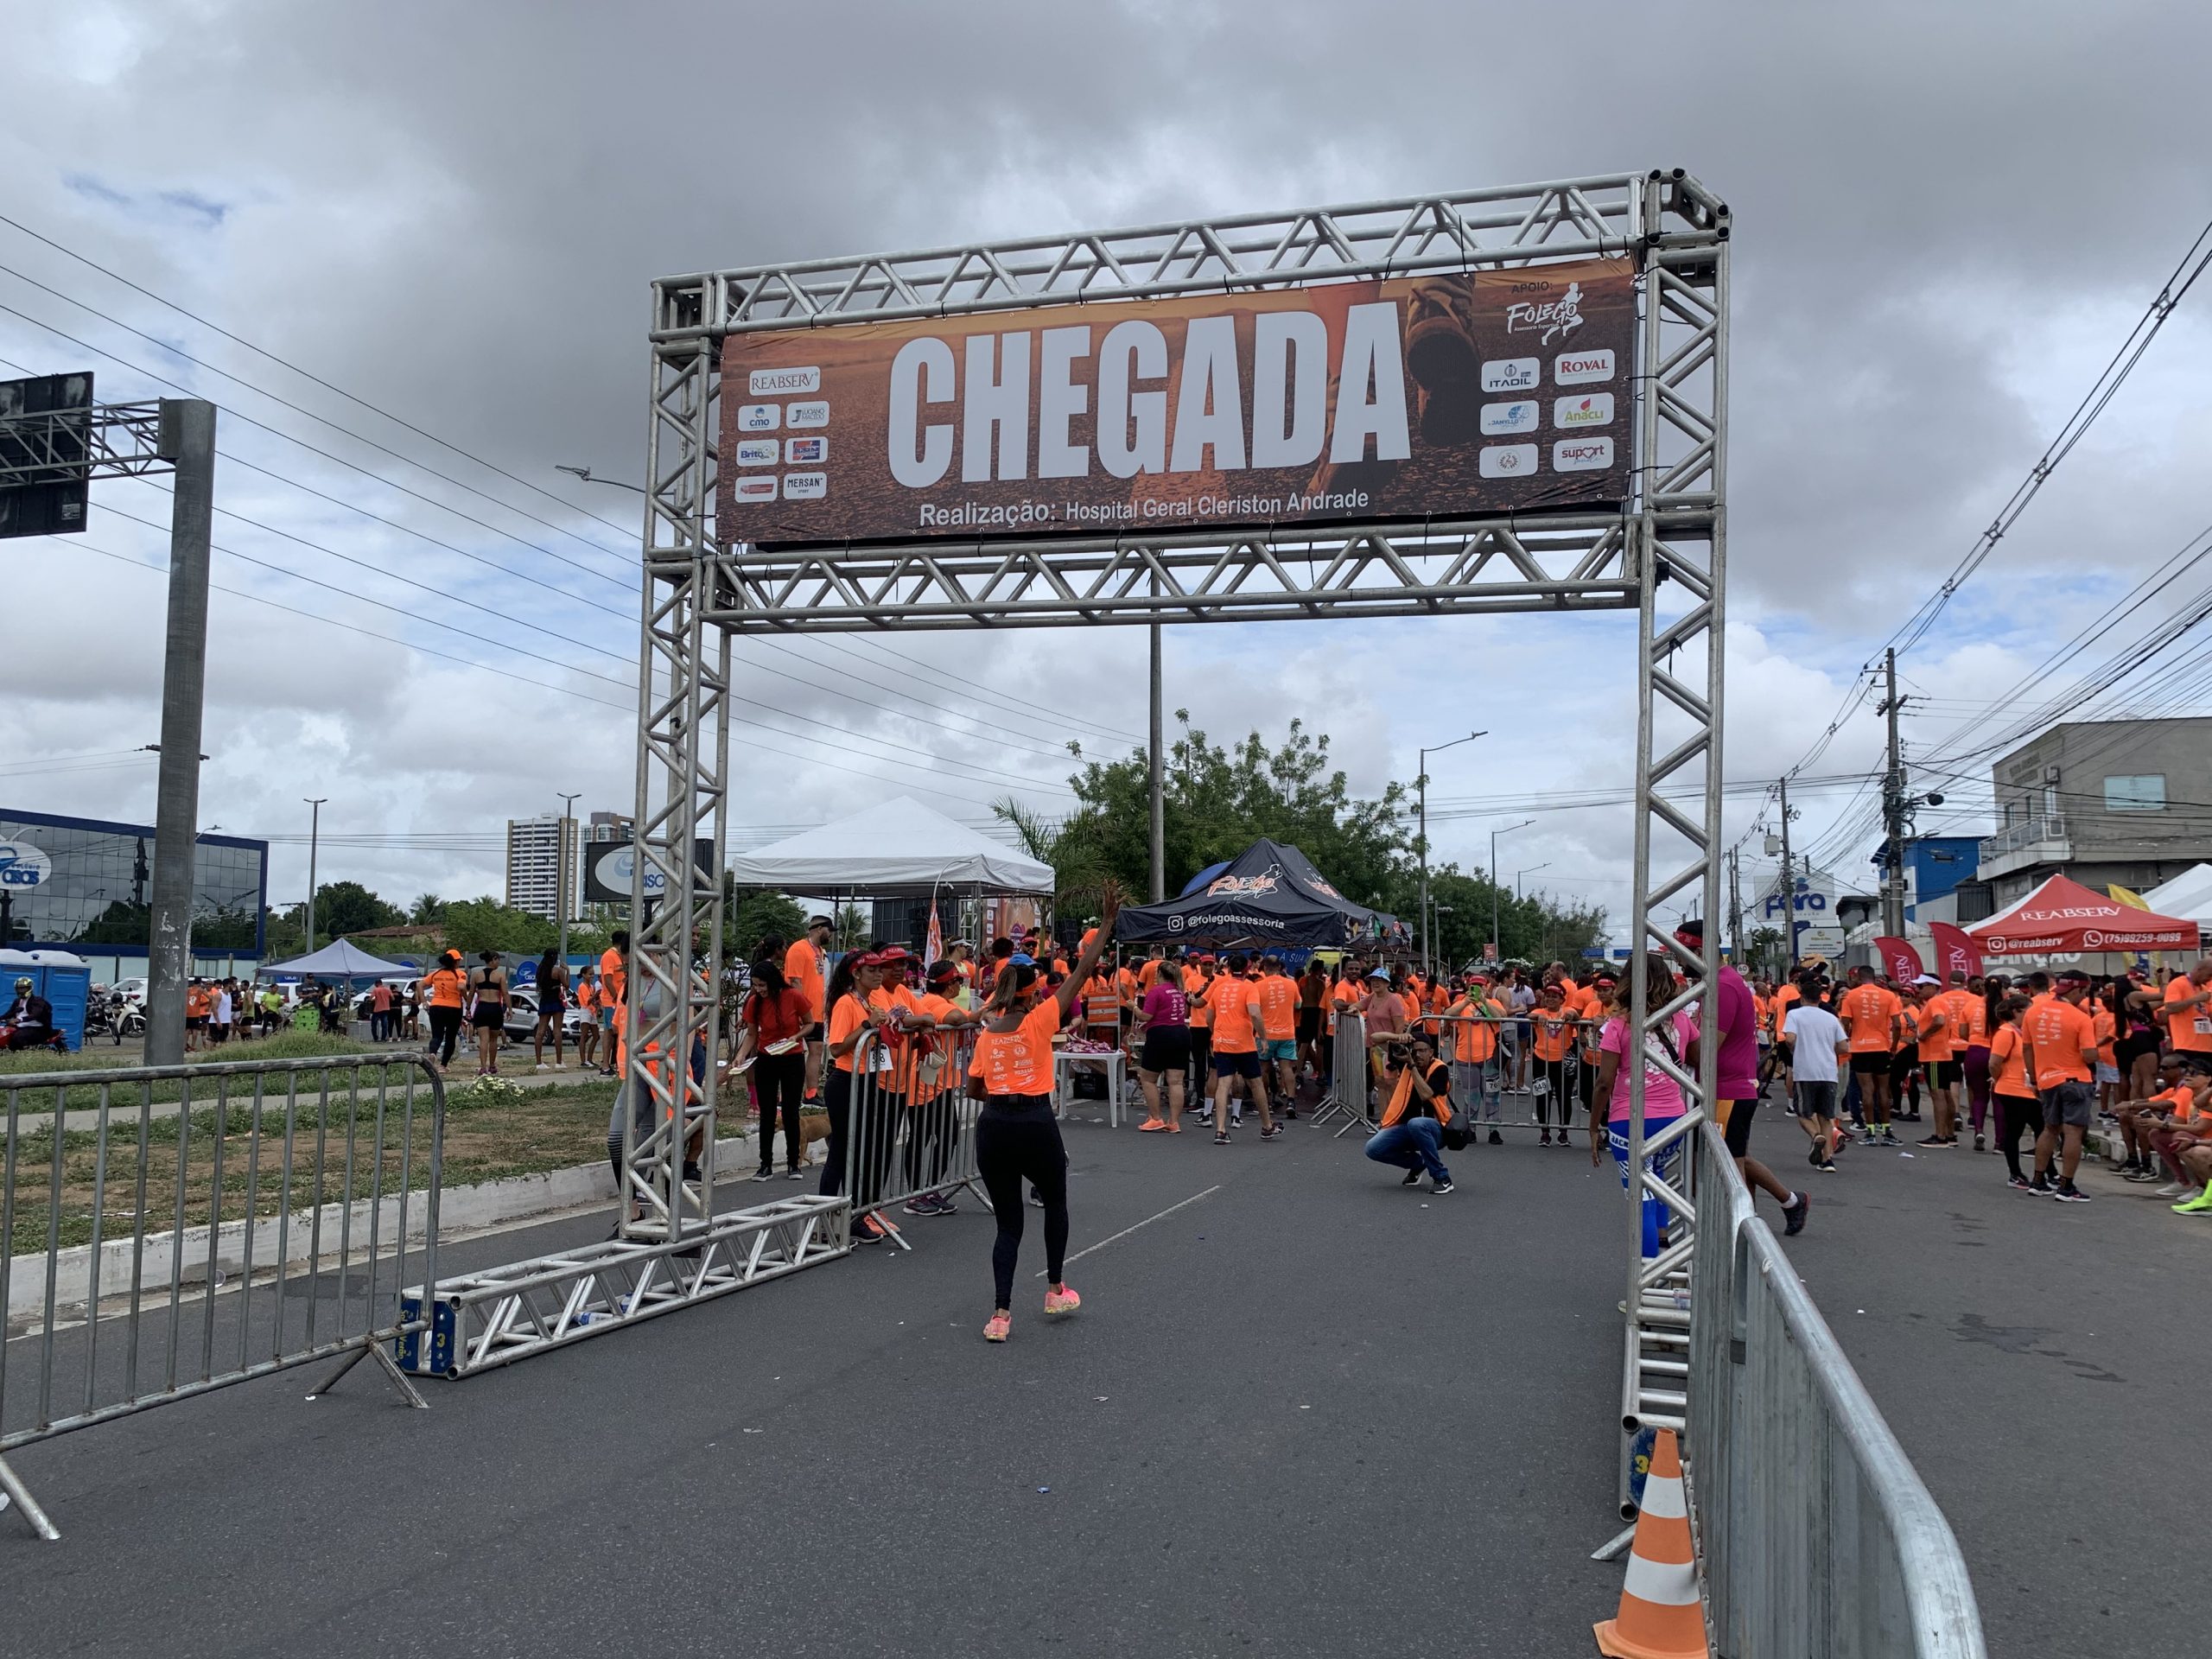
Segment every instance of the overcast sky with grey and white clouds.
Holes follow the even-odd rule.
[[[0,376],[93,367],[104,400],[168,380],[223,405],[215,580],[237,593],[212,606],[201,825],[303,836],[301,796],[330,796],[323,878],[398,900],[498,891],[504,821],[557,790],[630,803],[639,498],[553,467],[641,476],[653,276],[1686,166],[1736,221],[1725,774],[1752,781],[1812,748],[2212,217],[2212,13],[2179,0],[0,18],[0,212],[453,445],[0,226]],[[2006,719],[1991,701],[2212,518],[2208,376],[2212,285],[1905,659],[1942,699],[1913,710],[1916,748],[1971,750]],[[164,582],[126,562],[161,564],[131,515],[166,511],[100,484],[86,535],[0,544],[0,807],[150,821],[150,757],[124,752],[157,737]],[[889,790],[969,821],[1009,790],[1051,812],[1068,737],[1144,730],[1141,630],[898,650],[938,672],[741,646],[768,708],[741,710],[763,726],[732,750],[737,825]],[[1491,810],[1506,796],[1628,783],[1630,670],[1619,617],[1168,637],[1170,708],[1217,737],[1303,717],[1360,792],[1489,728],[1431,765],[1455,803],[1438,858],[1462,863],[1528,816]],[[1878,739],[1863,710],[1807,774],[1863,772]],[[1924,827],[1982,827],[1953,792],[1969,810]],[[1796,845],[1863,872],[1865,796],[1798,803]],[[1759,810],[1732,801],[1732,832]],[[1542,867],[1531,887],[1626,920],[1628,812],[1537,818],[1504,876]],[[305,847],[281,843],[272,898],[303,894]]]

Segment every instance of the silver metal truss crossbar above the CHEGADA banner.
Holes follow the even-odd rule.
[[[655,341],[1626,254],[1639,246],[1641,210],[1644,181],[1608,173],[1296,212],[741,265],[657,283]]]

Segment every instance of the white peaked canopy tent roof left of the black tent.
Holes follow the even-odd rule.
[[[1053,891],[1053,867],[909,796],[801,830],[730,860],[739,887],[785,894],[929,898]]]

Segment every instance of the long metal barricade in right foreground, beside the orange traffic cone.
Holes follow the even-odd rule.
[[[1697,1133],[1683,1473],[1717,1659],[1984,1659],[1958,1537]]]

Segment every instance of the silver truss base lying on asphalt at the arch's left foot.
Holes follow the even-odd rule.
[[[469,1376],[852,1250],[852,1203],[805,1194],[730,1210],[684,1239],[606,1243],[438,1281],[431,1338],[400,1367]],[[420,1285],[407,1292],[409,1307]]]

